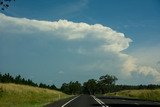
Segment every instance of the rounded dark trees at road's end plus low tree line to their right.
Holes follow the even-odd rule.
[[[67,94],[105,94],[121,90],[158,89],[160,85],[116,85],[117,77],[112,75],[101,76],[99,80],[89,79],[81,85],[78,81],[62,84],[60,90]]]

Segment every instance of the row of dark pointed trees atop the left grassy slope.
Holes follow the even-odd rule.
[[[9,73],[5,74],[0,73],[0,83],[15,83],[15,84],[34,86],[34,87],[57,89],[57,87],[54,84],[53,85],[46,85],[43,83],[37,84],[33,82],[31,79],[22,78],[20,75],[13,77]]]

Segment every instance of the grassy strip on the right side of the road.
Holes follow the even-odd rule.
[[[108,93],[110,96],[123,96],[130,98],[137,98],[143,100],[159,101],[160,102],[160,89],[155,90],[124,90],[114,93]]]

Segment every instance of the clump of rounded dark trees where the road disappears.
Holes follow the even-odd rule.
[[[62,84],[60,90],[67,94],[104,94],[115,86],[118,79],[115,76],[101,76],[99,80],[89,79],[81,85],[78,81]]]

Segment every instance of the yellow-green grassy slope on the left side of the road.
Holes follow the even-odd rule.
[[[0,107],[42,107],[67,97],[69,96],[55,90],[0,83]]]

